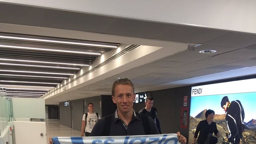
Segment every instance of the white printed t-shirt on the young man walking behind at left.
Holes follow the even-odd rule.
[[[85,132],[91,133],[92,132],[92,128],[94,127],[95,123],[98,121],[97,115],[96,113],[87,113],[87,119],[86,119],[86,125],[85,125]],[[100,115],[99,115],[99,119],[100,119]],[[85,114],[83,115],[83,121],[85,121]]]

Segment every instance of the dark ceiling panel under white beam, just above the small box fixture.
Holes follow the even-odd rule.
[[[214,38],[230,33],[224,30],[214,30],[199,27],[178,26],[157,37],[159,40],[202,44]]]

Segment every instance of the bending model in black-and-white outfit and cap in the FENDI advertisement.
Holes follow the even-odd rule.
[[[228,143],[239,144],[244,130],[244,109],[239,100],[229,102],[227,96],[221,100],[221,107],[226,114],[226,122],[229,130]]]

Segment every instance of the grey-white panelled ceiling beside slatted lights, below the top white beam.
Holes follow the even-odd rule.
[[[118,77],[131,79],[135,91],[142,92],[256,74],[256,35],[249,33],[3,3],[0,32],[115,42],[121,43],[122,49],[144,45],[69,85],[63,82],[44,97],[46,104],[111,94]],[[190,44],[201,45],[187,51]],[[198,53],[204,49],[217,52]],[[117,49],[104,53],[104,60],[117,53]],[[102,63],[101,59],[91,68]],[[88,70],[84,67],[77,76]]]

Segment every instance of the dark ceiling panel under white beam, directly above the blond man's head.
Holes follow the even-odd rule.
[[[117,18],[103,33],[154,39],[176,25]]]

